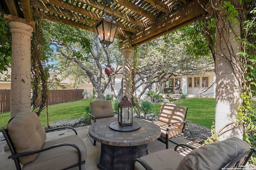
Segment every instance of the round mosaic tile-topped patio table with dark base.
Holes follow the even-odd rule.
[[[144,119],[133,118],[140,129],[119,132],[109,128],[116,118],[106,119],[91,125],[89,135],[101,143],[97,167],[101,170],[129,170],[134,158],[148,154],[148,143],[160,137],[158,126]]]

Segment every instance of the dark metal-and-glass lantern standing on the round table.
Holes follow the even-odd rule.
[[[132,126],[132,104],[126,96],[118,104],[118,123],[121,127]]]

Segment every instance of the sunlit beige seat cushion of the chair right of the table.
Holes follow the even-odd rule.
[[[166,129],[168,127],[168,123],[164,123],[162,121],[159,121],[159,120],[156,120],[156,121],[152,121],[152,123],[154,123],[155,125],[158,125],[161,129],[161,136],[160,137],[163,137],[165,138],[166,137]],[[178,128],[177,126],[174,126],[172,125],[170,127],[170,130],[169,130],[169,133],[168,133],[168,139],[176,136],[176,135],[179,135],[180,133],[182,133],[182,128]]]

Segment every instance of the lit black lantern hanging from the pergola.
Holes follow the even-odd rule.
[[[114,18],[113,0],[102,0],[102,2],[105,4],[105,7],[107,4],[112,4],[112,17],[107,13],[104,14],[104,7],[102,11],[102,18],[100,18],[93,27],[97,29],[98,37],[100,38],[100,43],[108,46],[112,44],[114,41],[118,24],[116,23],[116,19]]]

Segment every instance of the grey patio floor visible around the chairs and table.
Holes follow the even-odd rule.
[[[87,149],[87,158],[86,158],[86,170],[98,170],[97,168],[97,162],[98,162],[98,156],[100,154],[100,146],[101,144],[99,142],[96,142],[96,146],[93,146],[90,139],[88,138],[88,129],[90,126],[84,126],[84,127],[77,127],[75,128],[78,136],[84,141],[84,145]],[[74,132],[72,132],[70,129],[62,130],[62,131],[55,131],[51,133],[47,133],[46,141],[68,136],[68,135],[74,135]],[[176,137],[175,139],[172,139],[172,141],[175,141],[176,143],[186,143],[188,145],[192,145],[194,147],[200,147],[201,145],[188,141],[184,137]],[[6,141],[0,141],[0,169],[1,170],[16,170],[14,161],[12,159],[8,159],[8,156],[11,154],[10,150],[4,151],[4,147],[6,146]],[[174,149],[176,144],[169,141],[169,148]],[[148,153],[156,152],[158,150],[164,150],[165,144],[156,140],[154,142],[151,142],[148,144]]]

